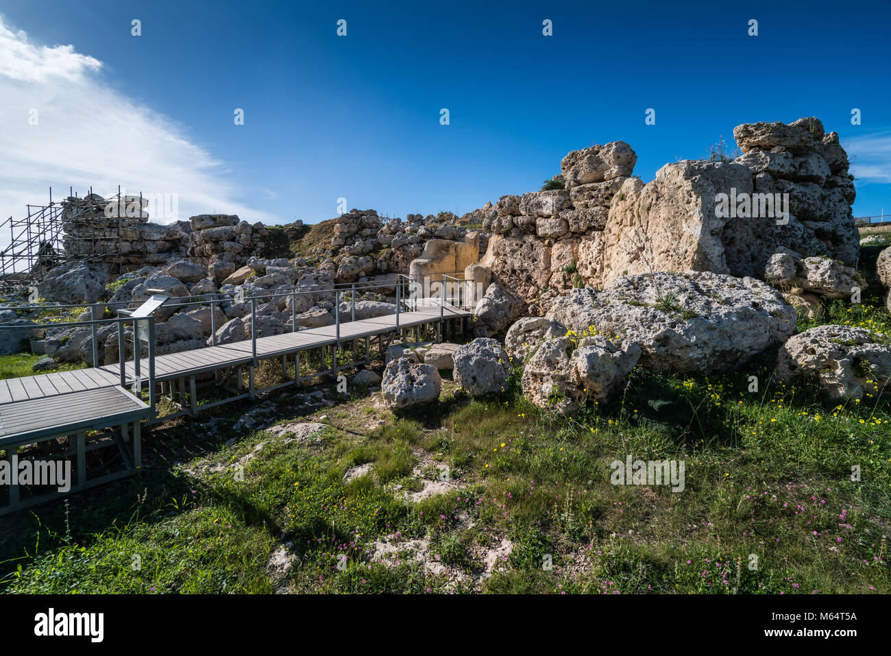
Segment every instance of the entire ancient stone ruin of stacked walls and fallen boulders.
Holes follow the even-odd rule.
[[[787,340],[776,374],[782,380],[861,352],[885,362],[887,347],[870,335],[858,333],[846,353],[823,340],[816,359],[802,355],[808,340],[840,332],[793,337],[797,312],[816,316],[821,298],[845,298],[867,284],[856,269],[854,183],[838,135],[815,118],[745,124],[733,134],[740,157],[666,164],[647,184],[634,176],[631,146],[614,141],[569,152],[544,190],[505,195],[463,217],[403,220],[352,209],[331,220],[330,237],[305,257],[275,241],[278,226],[229,215],[153,225],[139,197],[71,197],[63,210],[69,258],[45,275],[39,291],[54,302],[101,302],[110,312],[150,289],[195,301],[235,290],[311,292],[260,307],[262,334],[274,335],[334,323],[347,309],[335,308],[327,293],[337,284],[376,285],[349,306],[361,319],[395,312],[397,274],[420,283],[463,278],[478,290],[463,298],[474,306],[472,331],[482,340],[437,351],[432,372],[400,364],[393,376],[433,380],[447,361],[455,380],[473,381],[472,393],[495,393],[510,360],[524,368],[527,397],[546,406],[557,390],[561,412],[609,398],[634,366],[729,371]],[[878,263],[886,286],[889,252]],[[26,321],[20,339],[32,336],[27,319],[0,311],[4,321]],[[159,353],[247,339],[248,314],[247,304],[228,297],[213,321],[209,307],[166,306]],[[86,360],[88,333],[49,330],[48,352]],[[503,337],[504,349],[494,336]],[[101,362],[118,357],[113,330],[98,339]],[[397,406],[433,396],[403,389],[407,382],[385,383]],[[826,381],[844,393],[859,384],[845,376]]]

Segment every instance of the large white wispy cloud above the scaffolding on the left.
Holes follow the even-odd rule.
[[[44,202],[50,186],[61,197],[69,186],[110,195],[120,184],[178,194],[178,217],[153,217],[160,222],[209,212],[278,219],[237,201],[249,189],[232,171],[171,119],[113,89],[102,68],[73,45],[31,43],[0,15],[0,217]]]

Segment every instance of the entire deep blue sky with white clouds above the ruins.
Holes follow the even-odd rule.
[[[4,0],[0,12],[2,217],[71,184],[178,194],[179,218],[315,223],[340,197],[461,214],[535,191],[592,143],[630,143],[649,181],[722,135],[733,143],[740,123],[810,115],[851,156],[854,214],[891,214],[888,2]]]

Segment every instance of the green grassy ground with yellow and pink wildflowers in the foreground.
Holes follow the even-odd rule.
[[[843,301],[826,321],[889,327]],[[446,380],[436,406],[399,414],[364,390],[302,417],[282,398],[276,421],[329,425],[303,442],[234,435],[247,405],[215,410],[212,429],[179,418],[146,437],[138,479],[72,496],[67,513],[0,519],[2,586],[262,593],[277,584],[270,554],[290,545],[284,585],[302,593],[891,592],[891,401],[829,402],[773,384],[772,366],[638,368],[572,419],[529,404],[515,378],[476,399]],[[683,461],[683,492],[611,484],[626,455]],[[413,501],[443,467],[449,487]],[[372,561],[385,542],[396,551]]]

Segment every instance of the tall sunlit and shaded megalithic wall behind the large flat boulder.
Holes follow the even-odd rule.
[[[649,184],[631,176],[637,158],[627,143],[568,153],[565,189],[499,199],[484,224],[495,234],[481,264],[533,314],[572,287],[603,288],[622,275],[697,270],[764,280],[778,254],[798,275],[806,258],[853,266],[854,184],[838,135],[814,118],[745,124],[733,134],[743,152],[736,160],[666,164]],[[748,197],[748,214],[740,205],[724,216],[721,194]],[[788,200],[788,220],[781,204],[752,216],[768,194]]]

